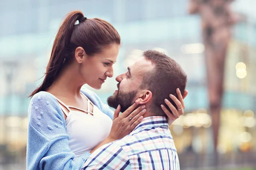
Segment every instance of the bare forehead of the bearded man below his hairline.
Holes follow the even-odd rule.
[[[132,74],[142,75],[146,71],[153,69],[153,65],[150,60],[146,60],[145,57],[140,57],[137,59],[133,65],[131,65]]]

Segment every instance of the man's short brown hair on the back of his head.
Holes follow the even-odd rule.
[[[147,71],[143,75],[141,89],[148,89],[152,92],[151,113],[154,116],[166,116],[160,105],[163,104],[172,113],[165,104],[164,99],[169,99],[172,105],[177,108],[175,102],[170,99],[169,94],[177,97],[176,89],[179,88],[181,94],[184,93],[187,84],[187,75],[181,66],[170,57],[155,50],[147,50],[143,53],[146,60],[151,61],[153,70]]]

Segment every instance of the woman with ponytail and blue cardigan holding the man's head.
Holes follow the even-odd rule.
[[[119,45],[118,32],[105,20],[87,19],[80,11],[67,14],[44,81],[30,95],[27,169],[79,170],[90,153],[140,123],[144,105],[134,103],[118,116],[120,106],[113,113],[99,96],[81,89],[84,84],[100,89],[113,76]],[[176,104],[184,105],[177,94]],[[175,116],[164,110],[172,120],[183,114],[183,110],[172,109]]]

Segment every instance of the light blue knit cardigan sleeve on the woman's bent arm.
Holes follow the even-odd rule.
[[[64,115],[47,92],[35,94],[29,105],[27,170],[79,170],[90,153],[73,161]]]

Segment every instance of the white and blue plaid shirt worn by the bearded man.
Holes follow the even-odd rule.
[[[146,117],[127,136],[97,149],[83,170],[180,170],[163,116]]]

